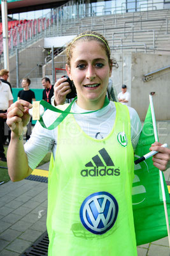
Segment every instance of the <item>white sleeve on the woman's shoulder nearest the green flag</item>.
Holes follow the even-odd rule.
[[[134,108],[127,107],[129,109],[129,115],[131,118],[131,141],[132,141],[132,147],[136,148],[138,145],[139,136],[141,134],[142,125],[141,120],[138,116],[138,113]]]

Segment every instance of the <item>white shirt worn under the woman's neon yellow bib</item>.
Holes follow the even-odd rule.
[[[129,114],[131,118],[131,141],[132,146],[135,149],[138,144],[139,135],[141,133],[141,121],[136,113],[136,110],[129,108]],[[76,102],[74,102],[71,112],[83,113],[87,112],[85,109],[81,109]],[[81,129],[86,132],[92,138],[105,138],[110,134],[111,129],[115,123],[116,107],[114,102],[110,102],[108,106],[100,109],[97,112],[74,115],[76,122],[80,125]],[[49,109],[45,111],[43,115],[43,120],[45,125],[50,126],[57,118],[57,113],[50,111]],[[69,129],[71,131],[71,127]],[[68,145],[69,147],[69,145]],[[46,154],[52,150],[53,157],[55,158],[57,150],[57,128],[53,130],[45,129],[36,122],[34,129],[32,130],[31,138],[24,145],[25,152],[28,157],[29,166],[34,170],[39,162],[46,156]]]

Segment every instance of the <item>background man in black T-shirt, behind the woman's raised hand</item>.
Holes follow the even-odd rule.
[[[32,103],[32,101],[36,100],[35,93],[29,89],[29,86],[31,84],[31,80],[29,78],[23,78],[22,79],[22,88],[23,90],[20,90],[18,92],[18,100],[26,100],[29,103]],[[27,132],[26,132],[26,140],[29,140],[30,135],[31,135],[31,123],[32,123],[32,118],[27,125]]]

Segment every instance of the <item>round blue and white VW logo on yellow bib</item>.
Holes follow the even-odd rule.
[[[80,208],[83,226],[93,234],[101,235],[110,230],[118,215],[118,203],[113,195],[97,192],[87,196]]]

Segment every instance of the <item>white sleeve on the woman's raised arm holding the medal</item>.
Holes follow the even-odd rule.
[[[57,118],[57,113],[45,111],[43,120],[48,127]],[[52,112],[52,111],[50,111]],[[49,118],[50,117],[50,118]],[[53,130],[45,129],[36,122],[32,130],[31,138],[24,144],[25,153],[27,154],[29,167],[34,170],[39,162],[46,156],[53,147],[57,147],[57,128]]]

